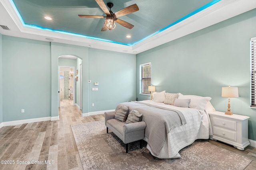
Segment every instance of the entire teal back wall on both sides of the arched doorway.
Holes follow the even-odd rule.
[[[79,92],[82,81],[82,104],[78,94],[76,98],[78,106],[82,105],[82,113],[115,109],[120,102],[136,99],[136,55],[90,49],[89,57],[88,47],[6,35],[2,35],[1,41],[0,57],[4,63],[4,73],[0,74],[4,82],[1,122],[57,117],[59,65],[75,66],[79,72],[82,63],[82,77],[79,75],[76,82]],[[62,55],[78,59],[59,59]],[[89,76],[92,82],[100,82],[97,92],[92,92],[92,84],[89,87]]]

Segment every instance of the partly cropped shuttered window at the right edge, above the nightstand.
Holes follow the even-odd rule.
[[[251,76],[251,107],[256,107],[256,37],[251,38]]]

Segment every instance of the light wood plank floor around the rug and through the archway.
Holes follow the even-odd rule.
[[[59,115],[58,121],[2,127],[0,160],[6,160],[5,163],[8,164],[0,164],[0,170],[82,170],[70,125],[104,120],[104,115],[82,117],[81,111],[76,106],[72,106],[70,100],[62,100]],[[209,142],[252,159],[245,170],[256,169],[256,148],[248,146],[244,151],[240,151],[224,143],[212,140]],[[20,164],[17,164],[17,161]],[[30,161],[30,163],[22,161]],[[31,164],[31,161],[35,161],[34,164]],[[51,164],[46,164],[45,161]]]

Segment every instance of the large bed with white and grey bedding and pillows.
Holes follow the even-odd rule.
[[[174,98],[170,98],[170,96]],[[210,103],[210,99],[210,97],[182,95],[180,93],[171,94],[163,91],[159,94],[154,94],[153,100],[125,102],[119,104],[116,109],[124,105],[128,106],[130,111],[134,109],[143,112],[142,121],[145,121],[147,125],[144,141],[148,142],[147,148],[153,156],[157,158],[180,158],[178,152],[182,148],[191,145],[196,139],[209,139],[209,136],[212,135],[212,126],[208,113],[215,111],[215,109]],[[184,103],[181,101],[187,102],[183,105]],[[152,110],[155,115],[152,113],[148,115],[149,110]],[[166,112],[166,110],[172,110],[177,114],[181,112],[185,121],[182,122],[181,120],[180,123],[171,125],[171,128],[169,126],[166,127],[165,125],[172,119],[170,117],[166,118],[168,113],[162,113],[163,111]],[[158,121],[156,119],[162,120]],[[164,122],[162,123],[162,121]],[[152,125],[152,122],[155,125]],[[156,131],[154,128],[156,127],[158,131],[161,128],[162,133],[165,133],[164,138],[162,137],[163,140],[158,138],[158,134],[161,133],[158,131],[154,133]],[[159,143],[161,140],[162,142]]]

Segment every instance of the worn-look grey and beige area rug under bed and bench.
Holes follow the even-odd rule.
[[[125,144],[112,132],[106,133],[104,121],[71,125],[84,170],[243,170],[252,160],[197,140],[180,150],[181,158],[158,159],[139,142]]]

